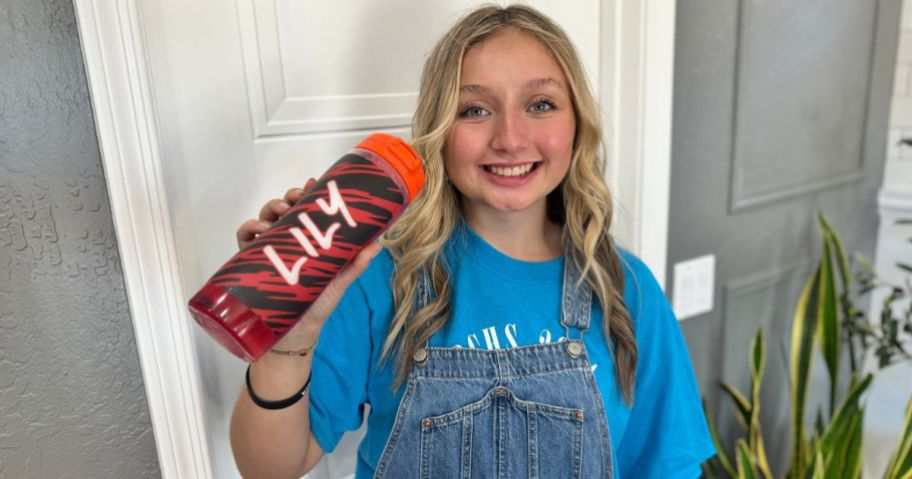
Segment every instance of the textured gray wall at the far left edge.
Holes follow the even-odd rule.
[[[0,2],[0,477],[157,477],[70,0]]]

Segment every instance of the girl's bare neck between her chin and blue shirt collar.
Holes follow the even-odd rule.
[[[522,261],[548,261],[563,254],[561,227],[544,210],[529,212],[464,211],[478,236],[501,253]]]

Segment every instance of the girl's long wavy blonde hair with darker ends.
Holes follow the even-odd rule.
[[[576,134],[570,170],[548,196],[548,217],[562,226],[568,257],[589,283],[604,311],[605,336],[614,355],[615,373],[628,403],[633,400],[637,344],[624,304],[624,273],[608,232],[613,204],[604,181],[599,111],[579,57],[564,31],[537,10],[513,5],[479,7],[440,39],[424,64],[418,107],[412,120],[412,144],[423,159],[424,190],[384,235],[395,260],[392,278],[395,317],[383,344],[383,357],[396,357],[394,388],[408,376],[412,356],[449,320],[452,286],[443,247],[461,218],[459,191],[447,181],[444,142],[456,118],[462,59],[494,33],[513,28],[548,47],[570,84]],[[414,311],[419,276],[427,272],[434,298]]]

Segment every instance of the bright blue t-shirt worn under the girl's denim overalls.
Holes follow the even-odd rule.
[[[445,250],[453,285],[450,320],[430,345],[492,349],[563,339],[563,258],[518,261],[467,227],[457,231]],[[698,477],[700,464],[715,449],[684,337],[646,265],[625,251],[621,259],[624,298],[639,348],[632,407],[617,384],[595,301],[583,336],[605,402],[617,470],[622,478]],[[373,475],[405,391],[403,386],[391,392],[394,361],[380,361],[394,314],[393,269],[392,257],[381,251],[346,291],[314,353],[310,422],[324,451],[332,452],[343,433],[358,429],[364,406],[370,405],[367,434],[358,448],[358,478]]]

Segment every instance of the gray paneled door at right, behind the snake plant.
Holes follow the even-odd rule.
[[[788,459],[784,351],[819,249],[816,209],[850,251],[873,253],[900,6],[678,4],[668,271],[716,255],[713,310],[682,327],[723,436],[739,426],[718,381],[748,390],[750,340],[765,331],[762,419],[774,472]]]

